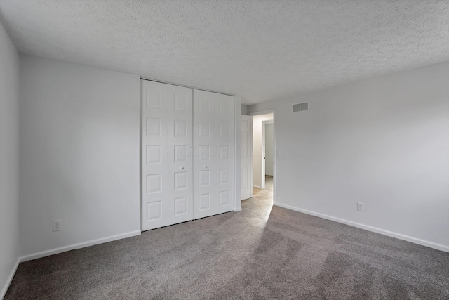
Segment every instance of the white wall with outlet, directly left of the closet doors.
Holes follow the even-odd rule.
[[[25,259],[140,233],[139,111],[137,75],[20,57]]]

